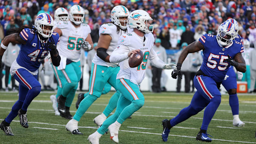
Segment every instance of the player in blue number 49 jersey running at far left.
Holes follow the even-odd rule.
[[[6,135],[14,135],[10,123],[18,115],[20,124],[28,128],[27,108],[32,100],[40,93],[41,85],[37,80],[38,68],[44,58],[50,53],[52,63],[60,64],[60,56],[56,49],[59,42],[59,34],[53,32],[53,18],[46,13],[41,13],[34,21],[34,28],[22,26],[15,33],[6,36],[0,48],[0,67],[2,55],[8,44],[21,44],[20,53],[12,63],[10,74],[20,83],[18,101],[12,106],[12,110],[0,124],[0,129]]]

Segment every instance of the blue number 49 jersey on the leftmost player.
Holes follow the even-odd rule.
[[[38,35],[30,28],[24,28],[20,32],[20,37],[26,41],[26,44],[21,44],[20,53],[16,59],[17,63],[30,70],[36,71],[43,59],[48,55],[50,49],[47,48],[47,41],[41,42]],[[52,33],[49,38],[49,42],[53,42],[55,45],[59,42],[59,34]]]

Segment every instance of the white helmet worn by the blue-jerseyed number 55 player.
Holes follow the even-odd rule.
[[[234,24],[231,22],[223,22],[218,27],[218,32],[216,35],[217,42],[221,46],[227,46],[236,37],[236,31]]]

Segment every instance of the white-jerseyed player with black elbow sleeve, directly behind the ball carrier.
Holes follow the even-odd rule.
[[[81,96],[79,98],[83,100],[80,102],[73,119],[66,124],[66,129],[68,129],[72,134],[79,134],[77,133],[79,131],[78,122],[91,104],[101,96],[106,82],[116,89],[116,93],[110,98],[110,101],[103,113],[94,118],[95,123],[98,126],[101,126],[107,116],[117,106],[120,92],[116,87],[116,76],[120,67],[117,63],[110,63],[109,58],[112,51],[118,46],[119,37],[122,34],[127,33],[128,16],[129,11],[125,6],[115,6],[111,11],[111,22],[104,23],[100,27],[100,38],[98,40],[97,53],[92,60],[91,66],[89,95]]]

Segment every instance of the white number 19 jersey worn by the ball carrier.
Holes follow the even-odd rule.
[[[153,49],[155,38],[152,33],[145,34],[145,41],[135,32],[123,34],[118,42],[118,47],[113,51],[113,55],[128,53],[134,49],[140,49],[143,52],[143,61],[136,68],[130,68],[128,60],[120,62],[120,71],[117,79],[128,79],[134,84],[140,84],[145,77],[145,70],[148,58],[155,59],[157,54]],[[150,57],[149,57],[150,56]]]

